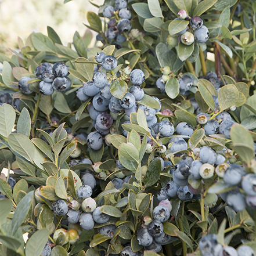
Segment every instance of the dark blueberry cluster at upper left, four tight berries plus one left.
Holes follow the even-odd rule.
[[[69,74],[68,67],[62,62],[57,62],[53,66],[48,62],[42,63],[35,68],[34,74],[42,80],[39,82],[38,88],[44,95],[52,95],[54,91],[64,92],[71,86],[71,80],[67,77]],[[32,81],[30,77],[22,77],[19,80],[19,89],[22,93],[33,93],[29,88],[30,81]]]

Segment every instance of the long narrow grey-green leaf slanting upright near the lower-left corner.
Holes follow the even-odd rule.
[[[12,236],[15,235],[19,226],[23,223],[24,219],[27,217],[28,211],[30,210],[32,199],[34,197],[34,191],[26,194],[26,196],[21,199],[20,203],[17,205],[15,214],[12,218]]]

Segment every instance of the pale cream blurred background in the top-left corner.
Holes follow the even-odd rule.
[[[92,0],[98,5],[103,0]],[[52,27],[64,45],[73,41],[75,31],[84,35],[88,24],[86,12],[98,13],[88,0],[0,0],[0,52],[12,55],[8,48],[17,48],[17,37],[26,41],[32,32],[47,35]]]

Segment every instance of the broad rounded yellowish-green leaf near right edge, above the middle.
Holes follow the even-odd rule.
[[[221,111],[235,105],[238,96],[239,93],[235,85],[228,84],[223,86],[218,93],[219,107],[221,108]]]

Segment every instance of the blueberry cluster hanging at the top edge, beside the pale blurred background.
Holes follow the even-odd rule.
[[[107,5],[103,9],[103,16],[108,18],[107,31],[104,36],[107,38],[107,41],[115,41],[117,47],[121,47],[120,44],[127,40],[127,34],[131,28],[132,24],[129,21],[132,17],[131,11],[127,8],[127,1],[125,0],[116,0],[115,8],[111,5]],[[98,34],[96,39],[98,41],[104,41],[102,35]]]

